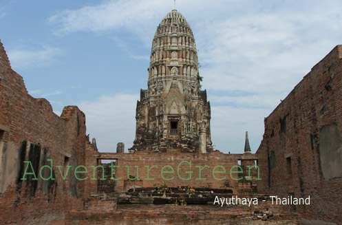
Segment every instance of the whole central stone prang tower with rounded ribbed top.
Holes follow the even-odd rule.
[[[148,89],[136,106],[133,151],[212,151],[210,103],[200,90],[193,32],[180,12],[172,10],[153,38]]]

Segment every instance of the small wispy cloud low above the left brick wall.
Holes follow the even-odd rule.
[[[10,50],[8,58],[12,68],[23,69],[50,65],[56,61],[56,56],[61,54],[63,51],[56,47],[43,46],[41,50]]]

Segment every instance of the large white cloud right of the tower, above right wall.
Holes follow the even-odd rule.
[[[340,12],[324,6],[328,9],[322,11],[319,4],[297,9],[278,3],[267,13],[247,8],[204,24],[206,34],[197,36],[204,87],[279,96],[290,92],[341,40],[337,28],[342,24],[332,19]]]

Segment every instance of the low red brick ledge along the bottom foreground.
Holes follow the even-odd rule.
[[[280,225],[301,224],[296,213],[278,213],[267,221],[251,215],[250,209],[221,206],[130,206],[118,211],[71,211],[65,217],[65,224],[239,224]]]

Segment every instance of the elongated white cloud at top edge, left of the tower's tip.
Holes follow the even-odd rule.
[[[71,32],[96,32],[126,30],[138,34],[145,43],[151,43],[156,25],[170,8],[166,0],[103,1],[96,6],[84,6],[77,10],[64,10],[50,17],[56,25],[56,34]],[[149,35],[147,35],[149,34]]]

